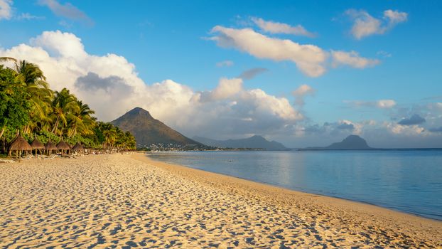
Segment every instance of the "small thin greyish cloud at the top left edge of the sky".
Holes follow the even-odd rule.
[[[52,11],[57,16],[62,16],[76,21],[86,21],[87,23],[92,23],[92,20],[83,11],[77,9],[70,3],[60,4],[57,0],[39,0],[39,4],[48,6],[50,11]]]

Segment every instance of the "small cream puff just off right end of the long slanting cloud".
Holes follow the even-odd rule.
[[[360,57],[359,53],[355,51],[332,51],[332,65],[338,67],[339,65],[349,65],[352,68],[367,68],[380,63],[377,59],[368,59]]]

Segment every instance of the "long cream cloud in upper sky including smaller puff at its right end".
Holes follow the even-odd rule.
[[[327,70],[330,53],[311,44],[301,45],[291,40],[271,38],[257,33],[251,28],[225,28],[215,26],[209,38],[223,48],[236,48],[257,58],[275,61],[289,60],[296,64],[302,73],[318,77]],[[377,65],[379,60],[360,57],[356,52],[332,51],[333,65],[349,65],[353,68],[366,68]]]

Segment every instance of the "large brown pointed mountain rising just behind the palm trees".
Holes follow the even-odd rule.
[[[151,114],[140,107],[126,112],[122,117],[111,122],[115,126],[134,134],[136,144],[141,146],[149,144],[198,144],[176,130],[168,127],[163,122],[154,119]]]

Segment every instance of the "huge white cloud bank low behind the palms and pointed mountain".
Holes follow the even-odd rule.
[[[207,92],[195,92],[173,80],[146,84],[126,58],[87,53],[72,33],[45,31],[27,44],[0,48],[0,56],[40,65],[51,88],[70,89],[96,111],[99,120],[114,120],[139,106],[185,134],[229,138],[269,134],[303,118],[284,97],[244,89],[242,78],[221,78]]]

